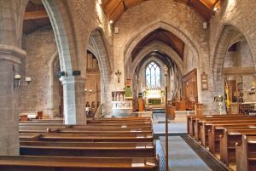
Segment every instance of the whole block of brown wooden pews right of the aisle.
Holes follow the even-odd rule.
[[[188,134],[232,170],[256,170],[256,117],[188,116]]]

